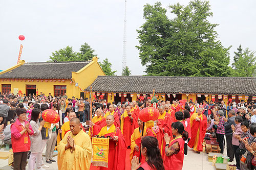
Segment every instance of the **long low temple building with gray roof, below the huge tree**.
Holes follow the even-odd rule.
[[[91,86],[94,97],[116,103],[126,98],[139,101],[146,94],[152,96],[153,90],[164,101],[256,100],[256,78],[248,77],[98,76]]]

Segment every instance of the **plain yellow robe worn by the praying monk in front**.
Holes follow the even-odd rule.
[[[71,148],[65,150],[68,136],[73,137],[75,142],[75,150],[71,153]],[[58,147],[58,169],[61,170],[77,170],[90,169],[92,160],[92,143],[91,138],[83,130],[77,135],[73,135],[70,131],[59,142]]]

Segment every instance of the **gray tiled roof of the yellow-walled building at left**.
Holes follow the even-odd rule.
[[[71,71],[78,71],[90,61],[25,63],[0,74],[0,79],[71,79]]]

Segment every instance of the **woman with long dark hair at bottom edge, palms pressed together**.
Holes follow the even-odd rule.
[[[140,150],[141,155],[145,157],[146,161],[139,163],[139,158],[134,156],[132,160],[132,170],[164,170],[157,138],[152,136],[143,137]]]

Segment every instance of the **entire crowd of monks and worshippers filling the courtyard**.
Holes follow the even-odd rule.
[[[143,122],[139,112],[156,107],[159,117],[154,123]],[[59,123],[44,126],[41,113],[56,111]],[[188,147],[203,152],[203,142],[217,137],[220,153],[226,145],[229,161],[236,159],[237,169],[255,169],[256,105],[241,100],[161,101],[151,100],[107,103],[89,99],[5,94],[0,96],[0,138],[13,149],[14,169],[45,169],[58,151],[59,169],[90,169],[92,137],[110,137],[108,166],[100,169],[125,169],[126,150],[131,149],[132,169],[182,169]],[[91,119],[92,117],[92,119]],[[87,122],[87,124],[83,124]],[[156,125],[156,126],[155,126]],[[226,138],[226,140],[224,140]],[[226,143],[224,142],[226,141]],[[42,152],[46,148],[46,159]],[[242,159],[245,158],[245,159]],[[243,160],[243,161],[242,161]]]

